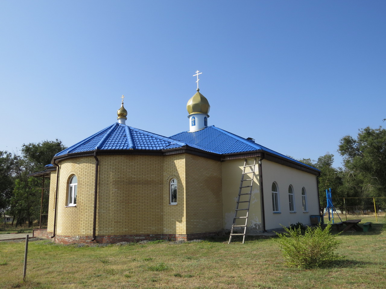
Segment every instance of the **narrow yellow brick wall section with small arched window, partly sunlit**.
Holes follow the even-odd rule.
[[[163,234],[186,234],[185,154],[164,156],[163,166]],[[177,180],[177,205],[169,203],[169,183]]]

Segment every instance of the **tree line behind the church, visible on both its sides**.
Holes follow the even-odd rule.
[[[0,151],[0,213],[14,217],[15,225],[29,226],[40,218],[41,178],[28,177],[43,171],[52,157],[64,150],[58,139],[40,143],[23,144],[21,155]],[[386,209],[386,130],[379,127],[360,129],[356,138],[344,136],[339,141],[338,153],[343,156],[343,166],[334,168],[334,155],[326,153],[318,160],[299,161],[321,171],[318,190],[321,207],[326,207],[325,190],[332,189],[335,207],[346,205],[371,205],[366,197],[377,199],[381,209]],[[49,178],[44,187],[49,187]],[[44,197],[42,213],[48,213],[48,192]],[[350,199],[363,198],[363,199]],[[336,201],[335,201],[336,200]],[[4,218],[5,221],[5,218]],[[14,223],[12,223],[14,225]]]

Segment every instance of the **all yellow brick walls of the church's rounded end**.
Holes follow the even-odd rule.
[[[221,163],[199,156],[98,156],[96,235],[194,234],[223,229]],[[92,235],[95,159],[60,162],[57,235]],[[76,207],[68,181],[78,178]],[[169,182],[178,185],[169,204]],[[53,230],[56,172],[51,174],[48,232]]]

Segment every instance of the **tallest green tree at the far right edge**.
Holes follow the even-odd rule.
[[[339,153],[344,157],[346,190],[357,197],[386,197],[386,130],[381,126],[359,129],[357,138],[340,139]]]

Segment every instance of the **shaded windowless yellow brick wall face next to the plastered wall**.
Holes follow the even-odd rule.
[[[186,234],[223,229],[221,162],[186,155]]]

